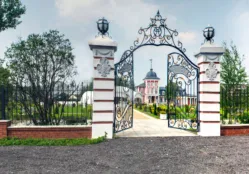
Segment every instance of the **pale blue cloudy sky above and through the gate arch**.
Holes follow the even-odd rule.
[[[214,41],[237,45],[240,54],[245,55],[244,65],[249,73],[249,0],[21,0],[27,7],[23,21],[16,29],[0,33],[0,57],[6,47],[26,38],[31,33],[42,33],[57,29],[70,39],[74,47],[78,81],[92,77],[92,53],[88,41],[97,35],[96,21],[105,17],[110,21],[109,33],[118,43],[115,54],[117,62],[123,52],[139,36],[140,27],[147,27],[150,17],[160,11],[169,28],[179,32],[179,40],[186,48],[187,56],[196,62],[194,54],[203,43],[202,30],[210,24],[216,30]],[[166,81],[166,56],[173,50],[167,47],[143,47],[134,53],[135,84],[149,71],[149,59],[153,69]]]

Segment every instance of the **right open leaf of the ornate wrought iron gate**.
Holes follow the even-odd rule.
[[[198,66],[185,55],[170,53],[167,69],[168,126],[198,130]]]

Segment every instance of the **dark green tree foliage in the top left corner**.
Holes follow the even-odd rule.
[[[21,23],[19,18],[26,11],[20,0],[0,0],[0,32],[16,28]]]

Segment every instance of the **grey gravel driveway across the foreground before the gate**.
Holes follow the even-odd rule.
[[[117,138],[74,147],[0,147],[0,173],[248,173],[249,137]]]

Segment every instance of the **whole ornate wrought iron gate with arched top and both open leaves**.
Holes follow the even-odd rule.
[[[133,53],[143,46],[168,46],[176,52],[168,55],[167,109],[168,126],[198,129],[198,67],[185,55],[182,43],[175,40],[176,30],[168,28],[159,11],[148,27],[140,28],[139,37],[115,64],[114,133],[133,126]]]

